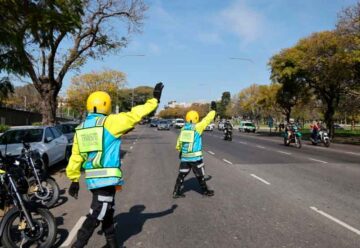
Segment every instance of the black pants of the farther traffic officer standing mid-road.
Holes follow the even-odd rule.
[[[179,175],[176,179],[176,184],[174,189],[175,192],[180,193],[180,188],[184,182],[184,179],[190,173],[191,170],[194,172],[195,177],[198,180],[202,191],[205,192],[208,190],[204,177],[205,176],[204,163],[202,160],[199,160],[194,162],[180,163]]]

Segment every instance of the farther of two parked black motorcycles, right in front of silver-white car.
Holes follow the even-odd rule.
[[[27,198],[51,208],[59,200],[59,185],[44,171],[40,153],[37,150],[31,150],[30,144],[23,143],[23,146],[19,161],[28,179]]]

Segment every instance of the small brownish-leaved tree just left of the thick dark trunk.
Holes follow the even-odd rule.
[[[39,112],[41,97],[33,84],[15,87],[11,97],[6,104],[12,108],[25,109],[32,112]]]

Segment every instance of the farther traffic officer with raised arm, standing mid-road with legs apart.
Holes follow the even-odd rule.
[[[199,122],[199,114],[196,111],[189,111],[186,114],[185,126],[181,129],[177,140],[176,149],[180,152],[181,159],[179,175],[176,179],[173,198],[185,197],[181,187],[185,177],[192,169],[198,180],[202,193],[205,196],[213,196],[214,191],[209,189],[205,180],[205,170],[202,154],[201,135],[205,128],[214,120],[216,115],[216,103],[211,102],[211,109],[207,116]]]

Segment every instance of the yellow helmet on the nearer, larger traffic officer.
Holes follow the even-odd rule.
[[[88,97],[86,109],[89,113],[109,115],[111,113],[111,97],[104,91],[95,91]]]

